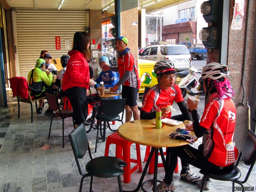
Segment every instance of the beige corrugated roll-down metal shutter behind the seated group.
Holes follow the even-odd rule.
[[[74,33],[86,27],[86,11],[17,9],[16,24],[20,76],[27,78],[42,50],[52,58],[68,54]],[[60,50],[56,50],[56,36],[60,36]],[[69,50],[65,49],[65,40],[70,40]]]

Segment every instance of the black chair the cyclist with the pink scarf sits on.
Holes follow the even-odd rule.
[[[241,177],[241,172],[237,166],[240,162],[241,157],[244,164],[246,164],[247,166],[250,165],[247,175],[243,181],[238,180]],[[249,130],[246,136],[246,139],[244,141],[244,145],[242,147],[242,151],[240,153],[238,161],[236,162],[236,165],[234,165],[231,169],[224,170],[224,171],[200,170],[200,173],[204,174],[204,181],[203,181],[200,192],[204,190],[204,184],[206,182],[207,177],[213,178],[216,180],[221,180],[221,181],[232,181],[232,192],[234,192],[235,183],[238,183],[243,187],[243,184],[247,182],[250,176],[250,173],[252,172],[252,168],[255,164],[255,161],[256,161],[256,135],[251,130]]]

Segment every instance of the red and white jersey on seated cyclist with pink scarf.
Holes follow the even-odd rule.
[[[230,98],[210,101],[199,123],[208,129],[203,154],[217,166],[228,166],[236,162],[238,150],[233,142],[236,125],[236,107]]]

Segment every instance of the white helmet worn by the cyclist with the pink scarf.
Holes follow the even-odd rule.
[[[209,63],[202,68],[202,78],[210,78],[216,80],[219,78],[227,78],[229,75],[228,66],[220,63]]]

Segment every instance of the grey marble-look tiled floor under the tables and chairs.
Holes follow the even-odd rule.
[[[11,91],[7,91],[8,96]],[[47,108],[47,104],[43,112]],[[34,105],[34,112],[36,111]],[[31,123],[30,105],[21,103],[21,116],[18,119],[18,106],[16,98],[8,97],[8,107],[0,108],[0,192],[77,192],[80,186],[81,176],[78,173],[70,142],[62,148],[62,138],[50,138],[48,131],[50,117],[44,114],[35,114]],[[72,127],[72,119],[65,120],[65,135],[68,135]],[[113,128],[118,128],[116,124]],[[52,132],[61,135],[62,120],[54,118]],[[112,134],[112,132],[107,132]],[[87,134],[88,139],[95,144],[96,130]],[[66,138],[68,141],[68,138]],[[195,147],[200,144],[196,142]],[[40,147],[48,145],[51,148],[42,150]],[[135,156],[135,145],[132,145],[132,156]],[[144,160],[145,146],[141,146],[142,161]],[[103,156],[105,142],[102,142],[93,153],[94,157]],[[111,145],[110,155],[114,156],[114,145]],[[83,159],[86,164],[88,158]],[[145,163],[142,164],[145,166]],[[180,166],[181,167],[181,166]],[[197,168],[192,167],[198,173]],[[239,167],[246,173],[247,167],[241,164]],[[199,174],[199,173],[198,173]],[[132,174],[131,182],[122,182],[123,190],[134,190],[140,179],[141,173],[136,170]],[[146,174],[145,180],[152,179],[152,175]],[[158,168],[158,179],[164,177],[164,169]],[[122,177],[121,177],[122,178]],[[192,184],[180,179],[179,174],[174,174],[177,188],[175,191],[200,191],[201,183]],[[123,178],[122,178],[123,179]],[[238,186],[238,185],[236,185]],[[245,186],[256,187],[256,167]],[[116,178],[94,178],[93,190],[95,192],[117,192]],[[151,191],[152,184],[145,185],[145,189]],[[232,191],[231,182],[212,180],[211,192]],[[89,180],[84,180],[83,191],[89,191]],[[142,190],[140,190],[142,191]]]

